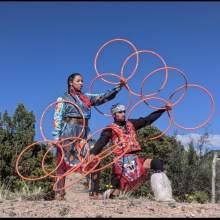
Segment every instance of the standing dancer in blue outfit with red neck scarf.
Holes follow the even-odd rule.
[[[83,117],[85,118],[85,128],[80,138],[87,139],[90,129],[88,126],[88,121],[91,118],[91,106],[102,105],[113,98],[124,86],[124,82],[114,87],[105,93],[100,94],[89,94],[83,93],[81,91],[83,87],[83,77],[80,73],[73,73],[68,77],[67,81],[68,91],[64,93],[63,96],[58,97],[54,114],[54,139],[62,140],[68,137],[78,137],[83,129],[83,118],[79,110],[68,103],[62,102],[62,100],[68,100],[79,106],[83,112]],[[75,141],[73,144],[69,144],[65,141],[64,147],[64,160],[62,164],[57,169],[57,175],[63,175],[70,168],[77,165],[80,161],[78,158],[76,145],[79,141]],[[61,159],[61,151],[56,148],[57,163]],[[65,186],[65,177],[59,178],[57,182],[57,189],[62,189]],[[55,198],[57,200],[63,200],[65,195],[65,190],[59,190],[56,192]]]

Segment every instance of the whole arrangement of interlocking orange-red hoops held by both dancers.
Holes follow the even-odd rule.
[[[132,54],[130,54],[123,62],[122,64],[122,67],[121,67],[121,70],[120,70],[120,73],[119,74],[113,74],[113,73],[101,73],[98,68],[97,68],[97,61],[98,61],[98,58],[100,57],[100,54],[101,52],[104,50],[105,47],[107,47],[109,44],[111,43],[114,43],[114,42],[124,42],[124,43],[127,43],[133,50],[134,52]],[[149,74],[147,74],[142,83],[141,83],[141,89],[140,89],[140,92],[135,92],[133,91],[130,86],[129,86],[129,82],[131,81],[132,77],[134,77],[136,71],[137,71],[137,68],[138,68],[138,65],[139,65],[139,55],[140,54],[150,54],[156,58],[159,59],[159,61],[161,62],[162,64],[162,67],[160,68],[157,68],[155,70],[153,70],[152,72],[150,72]],[[132,58],[132,57],[135,57],[135,66],[131,72],[131,74],[125,78],[124,77],[124,73],[125,73],[125,67],[128,63],[128,61]],[[164,135],[170,128],[172,125],[175,125],[179,128],[182,128],[182,129],[185,129],[185,130],[195,130],[195,129],[198,129],[198,128],[201,128],[205,125],[207,125],[209,123],[209,121],[212,119],[213,117],[213,114],[214,114],[214,111],[215,111],[215,102],[214,102],[214,98],[211,94],[211,92],[206,89],[205,87],[203,86],[200,86],[198,84],[192,84],[192,83],[188,83],[188,80],[187,80],[187,76],[186,74],[176,68],[176,67],[171,67],[171,66],[167,66],[166,62],[164,61],[164,59],[156,52],[154,51],[150,51],[150,50],[137,50],[137,48],[134,46],[133,43],[131,43],[130,41],[126,40],[126,39],[119,39],[119,38],[116,38],[116,39],[112,39],[108,42],[106,42],[105,44],[103,44],[100,49],[98,50],[98,52],[96,53],[96,56],[95,56],[95,59],[94,59],[94,68],[95,68],[95,72],[96,72],[96,77],[91,81],[90,85],[89,85],[89,91],[92,92],[92,88],[93,88],[93,85],[94,85],[94,82],[98,79],[104,81],[105,83],[108,83],[108,84],[111,84],[111,85],[118,85],[120,82],[124,82],[125,84],[125,88],[126,90],[128,91],[129,93],[129,102],[128,102],[128,105],[127,105],[127,109],[129,110],[128,113],[127,113],[127,118],[130,117],[131,113],[134,111],[134,109],[136,109],[141,103],[145,103],[146,106],[148,106],[149,108],[151,109],[161,109],[159,107],[156,107],[156,106],[153,106],[151,104],[149,104],[149,101],[150,100],[156,100],[156,101],[160,101],[160,102],[163,102],[164,103],[164,106],[169,104],[171,105],[172,107],[176,106],[177,104],[179,104],[186,96],[186,92],[188,89],[190,88],[196,88],[196,89],[199,89],[201,90],[202,92],[206,93],[208,95],[208,97],[210,98],[210,103],[211,103],[211,111],[210,111],[210,114],[208,115],[207,119],[203,122],[201,122],[200,124],[196,125],[195,127],[184,127],[183,125],[177,123],[173,116],[172,116],[172,110],[167,110],[167,115],[168,115],[168,118],[169,118],[169,123],[168,123],[168,126],[167,128],[161,132],[159,135],[155,136],[155,137],[150,137],[148,138],[148,140],[155,140],[155,139],[158,139],[160,138],[162,135]],[[184,80],[184,83],[182,86],[178,87],[177,89],[175,89],[167,99],[164,99],[164,98],[161,98],[159,97],[159,93],[165,89],[166,85],[167,85],[167,82],[168,82],[168,73],[169,73],[169,70],[174,70],[176,71]],[[160,86],[160,88],[153,92],[153,93],[150,93],[150,94],[144,94],[143,92],[143,88],[144,88],[144,85],[146,84],[147,80],[152,77],[153,75],[155,74],[158,74],[159,72],[163,72],[164,73],[164,81],[162,83],[162,85]],[[118,79],[118,82],[113,82],[113,81],[110,81],[110,80],[107,80],[106,77],[107,76],[112,76],[112,77],[116,77]],[[172,102],[172,98],[178,93],[178,92],[182,92],[181,96],[175,101],[175,102]],[[131,107],[131,96],[137,96],[140,98],[140,100],[138,102],[136,102],[135,104],[133,104],[133,106]],[[83,112],[81,110],[81,108],[79,106],[77,106],[75,103],[73,102],[70,102],[68,100],[64,100],[62,102],[65,102],[69,105],[73,105],[76,109],[78,109],[78,111],[80,112],[80,114],[82,115],[82,119],[83,119],[83,128],[80,132],[80,134],[77,136],[77,137],[68,137],[68,138],[65,138],[65,139],[61,139],[61,140],[49,140],[47,139],[47,137],[45,136],[44,134],[44,130],[43,130],[43,121],[44,121],[44,117],[45,117],[45,114],[48,112],[48,110],[52,107],[55,107],[55,105],[59,104],[59,101],[56,101],[56,102],[53,102],[51,104],[49,104],[45,110],[43,111],[42,113],[42,116],[41,116],[41,119],[40,119],[40,132],[41,132],[41,136],[43,138],[42,141],[38,141],[38,142],[35,142],[31,145],[28,145],[27,147],[25,147],[23,149],[23,151],[19,154],[17,160],[16,160],[16,172],[18,173],[18,175],[24,179],[24,180],[30,180],[30,181],[36,181],[36,180],[42,180],[46,177],[52,177],[52,178],[55,178],[56,182],[53,186],[53,190],[54,191],[59,191],[59,190],[62,190],[62,189],[66,189],[66,188],[69,188],[71,187],[73,184],[75,183],[79,183],[79,181],[83,178],[85,178],[87,175],[91,174],[91,173],[94,173],[94,172],[97,172],[97,171],[101,171],[101,170],[104,170],[106,169],[107,167],[110,167],[112,166],[113,163],[117,162],[121,157],[123,157],[124,154],[126,154],[129,150],[129,144],[127,143],[127,148],[124,150],[124,152],[120,155],[120,156],[117,156],[117,157],[114,157],[114,159],[109,162],[108,164],[104,165],[104,166],[100,166],[100,162],[108,157],[109,155],[113,154],[113,151],[115,149],[117,149],[119,147],[119,145],[121,143],[124,143],[125,140],[121,140],[120,143],[118,143],[117,145],[112,145],[112,146],[108,146],[104,151],[102,151],[100,154],[96,155],[95,157],[90,157],[90,149],[87,147],[86,148],[86,145],[88,144],[88,141],[89,139],[91,139],[96,133],[98,132],[101,132],[103,129],[105,128],[102,128],[102,129],[99,129],[95,132],[93,132],[89,137],[88,139],[83,139],[81,138],[83,132],[84,132],[84,129],[85,129],[85,118],[84,118],[84,115],[83,115]],[[130,108],[131,107],[131,108]],[[95,109],[97,110],[97,112],[99,112],[100,114],[102,114],[103,116],[105,117],[111,117],[110,114],[106,114],[106,113],[103,113],[102,111],[100,111],[97,107],[95,107]],[[69,141],[68,144],[65,144],[66,141]],[[43,172],[45,173],[45,175],[41,176],[41,177],[26,177],[26,176],[23,176],[20,172],[20,166],[19,166],[19,163],[21,161],[21,158],[22,156],[24,155],[24,153],[26,153],[28,150],[30,150],[31,148],[33,148],[34,146],[38,145],[38,144],[41,144],[41,143],[46,143],[49,148],[48,150],[46,151],[45,155],[43,156],[43,159],[41,161],[41,166],[42,166],[42,170]],[[76,147],[76,150],[78,152],[78,158],[79,158],[79,163],[74,166],[74,167],[70,167],[69,170],[67,172],[65,172],[63,175],[54,175],[54,173],[57,171],[57,169],[59,168],[59,166],[61,166],[61,164],[63,163],[63,159],[64,159],[64,149],[65,147],[71,145],[71,144],[74,144],[75,143],[75,147]],[[78,144],[76,144],[78,143]],[[45,165],[45,160],[48,156],[49,153],[51,153],[52,149],[54,147],[57,147],[60,149],[61,151],[61,158],[60,158],[60,161],[58,162],[57,166],[54,168],[54,170],[52,171],[48,171],[46,169],[46,165]],[[84,156],[82,156],[82,151],[84,151],[86,149],[86,154],[84,154]],[[81,176],[79,178],[75,178],[73,182],[69,183],[68,185],[65,185],[64,188],[57,188],[57,182],[59,179],[65,177],[65,176],[68,176],[68,175],[71,175],[72,173],[74,172],[78,172],[78,173],[81,173]]]

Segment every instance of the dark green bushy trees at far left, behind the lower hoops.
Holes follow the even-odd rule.
[[[41,189],[45,199],[54,197],[52,190],[53,179],[47,177],[40,181],[22,180],[15,169],[18,155],[28,145],[34,143],[35,116],[28,112],[23,104],[19,104],[15,113],[10,117],[6,112],[0,114],[0,185],[10,192],[21,192],[27,186],[28,192]],[[45,175],[41,168],[41,160],[48,146],[36,144],[27,151],[19,163],[19,171],[23,176],[36,177]],[[54,159],[51,154],[46,159],[47,169],[52,170]],[[1,186],[0,186],[1,187]]]

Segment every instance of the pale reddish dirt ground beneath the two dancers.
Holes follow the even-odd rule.
[[[67,190],[65,201],[0,201],[0,217],[220,217],[220,204],[162,203],[126,197],[89,200],[80,184]]]

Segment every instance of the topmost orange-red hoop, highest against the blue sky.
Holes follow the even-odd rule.
[[[96,75],[99,76],[101,73],[98,71],[97,69],[97,59],[99,57],[99,54],[101,53],[101,51],[110,43],[113,43],[115,41],[122,41],[122,42],[125,42],[125,43],[128,43],[133,49],[134,51],[137,51],[137,48],[134,46],[134,44],[132,44],[130,41],[126,40],[126,39],[123,39],[123,38],[114,38],[112,40],[109,40],[107,41],[106,43],[104,43],[100,49],[98,50],[98,52],[96,53],[96,56],[95,56],[95,59],[94,59],[94,68],[95,68],[95,71],[96,71]],[[138,67],[138,63],[139,63],[139,56],[138,56],[138,53],[136,54],[136,64],[135,64],[135,67],[131,73],[131,75],[134,75],[136,70],[137,70],[137,67]],[[112,81],[108,81],[108,80],[105,80],[103,78],[101,78],[103,81],[107,82],[107,83],[110,83],[112,85],[117,85],[117,83],[115,82],[112,82]]]

